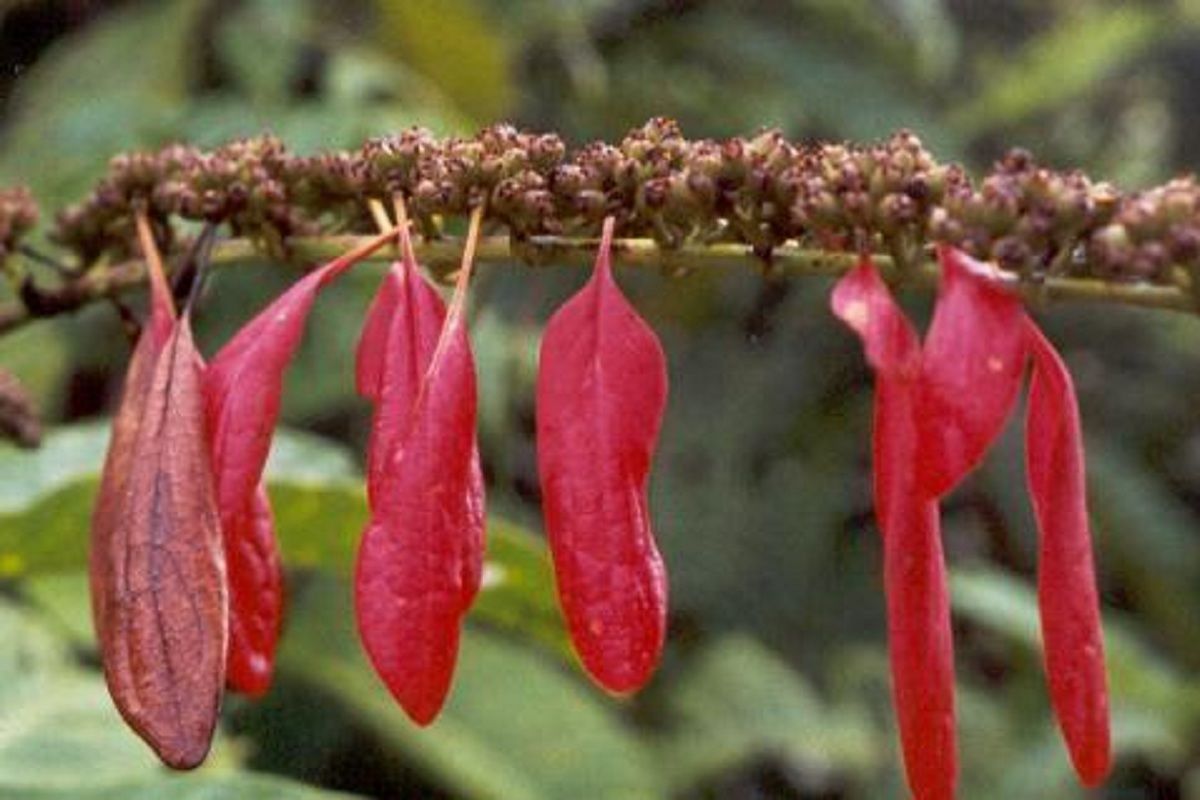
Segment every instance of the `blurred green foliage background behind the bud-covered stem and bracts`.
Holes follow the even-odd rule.
[[[92,0],[0,4],[0,180],[44,207],[124,149],[269,130],[300,151],[508,118],[575,143],[649,115],[689,136],[914,128],[980,167],[1032,148],[1126,186],[1200,163],[1190,0]],[[480,273],[473,337],[490,494],[486,588],[452,699],[413,728],[353,631],[368,410],[349,354],[380,272],[318,303],[288,377],[270,489],[290,567],[278,682],[230,699],[211,763],[168,776],[104,696],[83,582],[90,498],[127,353],[91,308],[0,338],[59,427],[0,451],[0,798],[875,799],[904,796],[868,473],[869,375],[820,281],[622,276],[672,397],[653,507],[667,657],[613,699],[564,642],[539,540],[540,326],[568,270]],[[211,353],[287,284],[246,264],[199,309]],[[905,297],[923,318],[928,296]],[[1109,630],[1108,800],[1200,799],[1200,324],[1040,314],[1076,375]],[[1019,426],[1014,426],[1019,427]],[[944,507],[961,796],[1081,798],[1040,674],[1019,431]]]

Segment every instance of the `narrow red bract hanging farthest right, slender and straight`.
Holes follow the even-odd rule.
[[[1082,434],[1070,374],[1032,320],[1026,467],[1038,521],[1038,602],[1050,699],[1076,772],[1100,783],[1111,765],[1108,681],[1092,565]]]

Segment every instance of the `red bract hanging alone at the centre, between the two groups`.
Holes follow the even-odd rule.
[[[538,473],[571,640],[588,673],[631,692],[654,672],[666,571],[647,480],[666,405],[666,359],[612,277],[613,221],[595,271],[546,325],[538,368]]]

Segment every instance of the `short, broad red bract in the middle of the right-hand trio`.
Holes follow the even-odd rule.
[[[922,485],[949,492],[983,458],[1013,410],[1025,374],[1020,300],[995,270],[938,249],[942,279],[922,361]]]

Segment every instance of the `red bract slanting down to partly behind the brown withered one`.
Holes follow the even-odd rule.
[[[247,694],[262,694],[270,685],[283,608],[283,576],[260,486],[278,421],[283,372],[320,289],[394,235],[382,234],[306,275],[247,323],[212,359],[205,375],[212,467],[229,559],[229,685]]]

